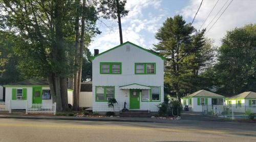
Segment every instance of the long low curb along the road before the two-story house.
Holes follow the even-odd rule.
[[[92,119],[92,118],[41,118],[41,117],[18,117],[18,116],[0,116],[0,119],[10,118],[10,119],[34,119],[34,120],[78,120],[78,121],[112,121],[112,122],[147,122],[147,123],[162,123],[147,120],[124,120],[124,119]]]

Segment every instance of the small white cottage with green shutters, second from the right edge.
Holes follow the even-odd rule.
[[[223,105],[223,102],[224,96],[205,90],[200,90],[181,98],[182,106],[188,105],[189,109],[195,112],[202,112],[204,106]]]

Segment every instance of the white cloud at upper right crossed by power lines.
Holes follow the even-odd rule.
[[[193,25],[199,29],[199,27],[202,25],[205,18],[208,16],[210,10],[214,7],[217,0],[215,1],[203,1],[203,4],[196,16],[196,20],[194,21]],[[231,2],[229,0],[226,4],[226,6]],[[195,13],[201,3],[201,0],[197,1],[191,1],[189,2],[188,6],[186,6],[184,9],[180,11],[180,13],[184,16],[184,18],[190,18],[193,19],[195,16]],[[205,28],[208,23],[212,20],[212,18],[215,17],[215,15],[218,13],[218,11],[221,9],[221,7],[226,3],[226,1],[219,1],[216,5],[215,9],[212,11],[204,25],[202,26],[202,29]],[[226,8],[222,9],[222,11]],[[223,15],[220,17],[220,19],[216,22],[214,26],[212,26],[211,30],[206,34],[207,37],[212,38],[216,41],[216,45],[221,44],[221,38],[223,38],[226,34],[226,31],[230,31],[234,29],[235,27],[241,27],[245,24],[249,23],[256,23],[256,1],[252,0],[246,0],[246,1],[239,1],[234,0],[227,10],[223,13]],[[219,15],[222,13],[222,11],[219,13]],[[208,26],[206,30],[210,28],[210,26],[217,20],[219,15],[216,17],[215,20],[212,21],[212,23]]]

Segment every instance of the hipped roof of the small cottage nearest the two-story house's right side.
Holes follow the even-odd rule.
[[[192,93],[188,96],[185,96],[183,98],[193,98],[193,97],[212,97],[212,98],[216,98],[216,97],[219,97],[219,98],[224,98],[224,96],[222,95],[219,95],[219,94],[215,94],[215,93],[212,93],[212,92],[209,92],[209,91],[206,91],[206,90],[199,90],[195,93]]]

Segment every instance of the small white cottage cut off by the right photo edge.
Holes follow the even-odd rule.
[[[233,107],[234,112],[250,110],[256,113],[256,93],[244,92],[226,99],[226,104]]]

